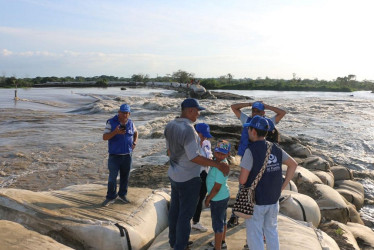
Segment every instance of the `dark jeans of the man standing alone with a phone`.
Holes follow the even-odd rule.
[[[107,199],[117,198],[117,176],[118,172],[120,173],[119,178],[119,196],[127,195],[127,187],[129,184],[129,176],[131,169],[131,154],[127,155],[109,155],[108,159],[108,169],[109,169],[109,178],[108,178],[108,192],[106,195]]]

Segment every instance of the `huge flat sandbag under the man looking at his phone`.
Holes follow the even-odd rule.
[[[50,192],[0,189],[0,215],[79,249],[141,249],[167,227],[165,192],[130,187],[131,203],[102,207],[106,189],[95,184]]]

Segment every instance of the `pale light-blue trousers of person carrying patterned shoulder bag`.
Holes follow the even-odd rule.
[[[252,218],[245,220],[249,249],[263,250],[265,247],[263,237],[265,235],[266,248],[279,250],[278,211],[278,202],[272,205],[254,206]]]

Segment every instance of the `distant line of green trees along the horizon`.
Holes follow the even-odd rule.
[[[133,74],[130,78],[116,77],[116,76],[94,76],[94,77],[35,77],[35,78],[16,78],[0,77],[0,87],[14,88],[14,87],[33,87],[35,84],[43,84],[48,82],[66,83],[66,82],[94,82],[93,86],[106,87],[108,82],[125,81],[125,82],[179,82],[189,83],[195,78],[194,73],[189,73],[184,70],[178,70],[172,74],[165,76],[157,76],[155,78],[149,77],[148,74]],[[374,81],[364,80],[357,81],[355,75],[348,75],[344,77],[337,77],[335,80],[326,81],[318,79],[301,79],[293,74],[292,79],[270,79],[266,78],[242,78],[234,79],[231,73],[220,76],[218,78],[198,78],[200,84],[206,89],[237,89],[237,90],[284,90],[284,91],[339,91],[349,92],[356,90],[371,90],[374,91]]]

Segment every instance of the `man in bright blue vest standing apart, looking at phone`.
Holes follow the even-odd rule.
[[[113,203],[117,196],[124,203],[127,199],[127,187],[129,183],[132,163],[132,151],[136,147],[138,131],[135,124],[129,118],[131,113],[128,104],[122,104],[115,115],[106,122],[103,140],[108,141],[108,191],[103,206]],[[117,176],[120,173],[120,184],[117,193]]]

